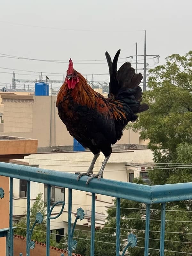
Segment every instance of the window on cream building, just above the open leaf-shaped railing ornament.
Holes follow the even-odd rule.
[[[44,201],[47,202],[47,185],[44,186]],[[51,205],[58,201],[65,201],[65,188],[51,186]]]

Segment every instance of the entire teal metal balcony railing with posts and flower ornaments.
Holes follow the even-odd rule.
[[[6,256],[13,256],[13,225],[12,225],[12,198],[13,198],[13,178],[27,180],[27,238],[26,238],[26,255],[30,255],[30,249],[33,249],[35,242],[31,241],[33,228],[37,223],[43,221],[43,215],[39,212],[36,215],[34,225],[30,230],[30,182],[35,181],[47,184],[47,230],[46,230],[46,256],[49,256],[50,244],[50,220],[56,219],[62,214],[65,202],[59,201],[50,206],[51,185],[68,188],[68,256],[71,256],[72,250],[76,248],[76,240],[73,240],[73,233],[77,220],[84,218],[83,209],[77,209],[76,220],[71,225],[72,214],[72,189],[92,193],[92,217],[91,217],[91,256],[94,255],[95,241],[95,194],[113,196],[116,201],[116,256],[120,255],[120,202],[121,198],[133,200],[146,204],[145,218],[145,251],[144,256],[149,252],[149,226],[150,226],[150,207],[151,204],[161,203],[161,227],[160,227],[160,248],[159,255],[164,255],[164,234],[165,234],[165,205],[167,202],[181,201],[192,199],[192,183],[180,183],[170,185],[147,186],[129,182],[120,182],[115,180],[101,179],[99,182],[94,179],[88,186],[85,186],[86,177],[82,177],[78,182],[76,175],[67,172],[58,172],[35,167],[0,163],[0,175],[10,177],[10,221],[9,227],[0,230],[0,237],[6,237]],[[0,198],[4,197],[3,188],[0,188]],[[0,201],[3,204],[3,201]],[[55,217],[51,217],[53,208],[61,204],[61,210]],[[137,238],[130,234],[127,239],[127,245],[124,248],[122,256],[128,246],[137,245]],[[20,254],[22,255],[22,253]],[[23,254],[24,255],[24,254]],[[16,255],[14,255],[16,256]]]

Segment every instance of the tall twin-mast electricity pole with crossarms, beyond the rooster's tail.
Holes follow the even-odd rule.
[[[138,72],[138,70],[143,70],[143,92],[146,91],[146,87],[147,87],[147,83],[146,83],[146,71],[147,69],[151,69],[151,68],[147,68],[147,63],[146,63],[146,60],[147,60],[147,56],[151,56],[153,58],[157,58],[158,61],[159,61],[159,55],[150,55],[150,54],[146,54],[146,30],[145,30],[145,39],[144,39],[144,54],[143,55],[137,55],[137,43],[136,43],[136,55],[132,55],[132,56],[129,56],[129,57],[126,57],[126,59],[128,58],[132,58],[135,57],[136,58],[136,61],[135,62],[131,62],[132,64],[135,64],[136,65],[136,73]],[[138,59],[137,57],[144,57],[144,62],[138,62]],[[158,62],[157,62],[158,63]],[[144,67],[143,68],[138,68],[138,64],[143,64]]]

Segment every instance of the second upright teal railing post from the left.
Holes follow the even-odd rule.
[[[29,233],[30,233],[30,194],[31,183],[27,181],[27,234],[26,234],[26,255],[30,255]]]

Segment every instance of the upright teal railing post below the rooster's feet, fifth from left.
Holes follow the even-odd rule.
[[[95,194],[92,193],[91,204],[91,256],[94,256],[95,251]]]

